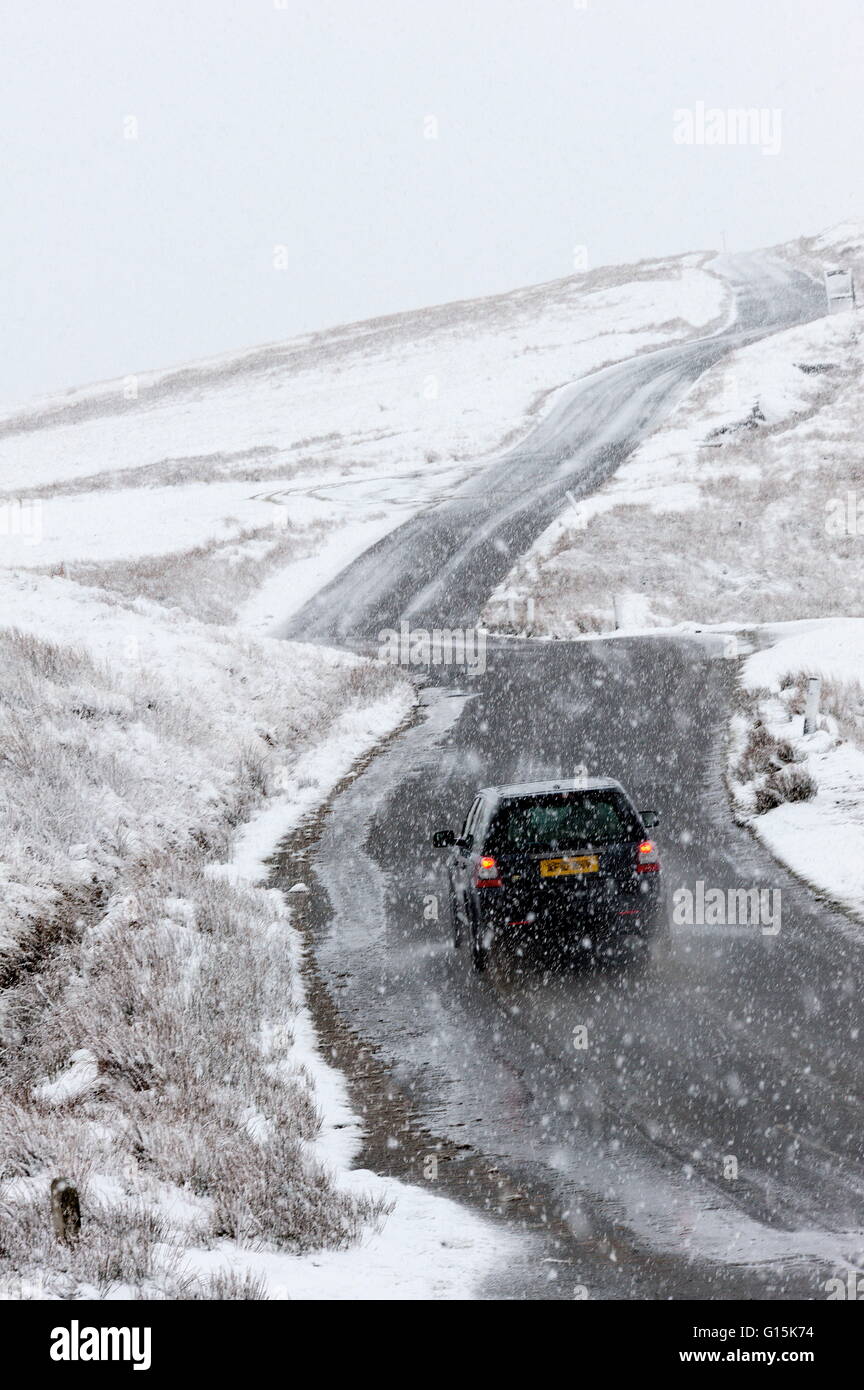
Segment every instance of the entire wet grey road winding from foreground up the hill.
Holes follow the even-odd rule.
[[[807,286],[781,288],[783,313],[810,317]],[[703,350],[717,341],[613,368],[624,385],[603,382],[592,404],[585,388],[563,402],[570,425],[553,420],[553,432],[570,430],[571,443],[558,439],[554,463],[549,434],[539,461],[501,461],[511,482],[528,470],[528,492],[539,488],[533,534],[558,486],[588,491],[607,467],[597,450],[620,457]],[[286,635],[363,646],[401,616],[474,621],[528,543],[529,499],[508,492],[476,546],[461,520],[474,513],[476,532],[470,499],[408,523]],[[592,1298],[822,1298],[845,1262],[864,1264],[864,955],[846,920],[732,821],[722,745],[735,674],[699,638],[492,641],[482,676],[436,669],[422,717],[326,819],[311,860],[313,927],[342,1015],[378,1045],[424,1125],[463,1145],[465,1195],[482,1159],[506,1175],[513,1222],[528,1197],[570,1236],[543,1247],[535,1216],[540,1247],[496,1272],[490,1297],[572,1297],[581,1286]],[[507,955],[475,977],[450,944],[432,830],[456,826],[478,785],[579,763],[660,812],[668,890],[779,890],[776,935],[681,926],[640,966],[550,969]]]

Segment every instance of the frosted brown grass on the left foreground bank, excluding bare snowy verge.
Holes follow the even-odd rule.
[[[254,684],[251,663],[243,678]],[[274,766],[394,680],[336,666],[314,719],[286,709],[224,748],[178,691],[119,688],[79,652],[0,632],[0,1280],[43,1280],[58,1297],[254,1298],[254,1280],[193,1280],[183,1250],[339,1247],[381,1215],[336,1190],[314,1155],[281,895],[213,863]],[[92,1084],[67,1099],[42,1090],[81,1049],[96,1059]],[[50,1234],[56,1176],[82,1193],[74,1251]]]

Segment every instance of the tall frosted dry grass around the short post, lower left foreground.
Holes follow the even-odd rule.
[[[163,1184],[200,1208],[188,1243],[350,1244],[381,1211],[335,1190],[313,1154],[319,1116],[292,1062],[293,967],[276,895],[213,880],[193,858],[140,866],[122,888],[114,922],[110,910],[93,920],[7,999],[0,1177],[33,1180],[35,1191],[6,1213],[3,1259],[17,1273],[67,1269],[47,1227],[57,1175],[82,1190],[68,1272],[100,1295],[153,1282],[156,1247],[171,1244],[182,1269],[176,1233],[158,1216]],[[63,1074],[74,1048],[94,1055],[96,1081],[68,1102],[40,1098],[35,1087]],[[126,1207],[122,1220],[111,1215],[99,1198],[106,1180],[138,1218]]]

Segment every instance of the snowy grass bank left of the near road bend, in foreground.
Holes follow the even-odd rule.
[[[464,1294],[508,1241],[353,1166],[363,1131],[306,1008],[292,894],[264,887],[264,859],[414,689],[64,578],[0,591],[17,614],[0,637],[0,1291]],[[46,1219],[58,1173],[88,1226],[71,1254]]]

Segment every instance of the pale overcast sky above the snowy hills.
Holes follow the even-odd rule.
[[[861,0],[4,11],[3,404],[864,215]],[[779,152],[675,143],[700,101]]]

